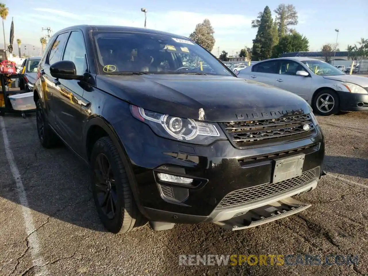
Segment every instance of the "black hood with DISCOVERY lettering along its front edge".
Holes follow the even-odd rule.
[[[256,81],[212,75],[97,75],[97,87],[133,105],[205,121],[244,121],[311,112],[301,97]]]

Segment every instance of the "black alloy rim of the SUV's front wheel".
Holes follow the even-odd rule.
[[[117,205],[116,183],[112,167],[105,154],[97,155],[94,173],[99,206],[108,219],[114,219]]]

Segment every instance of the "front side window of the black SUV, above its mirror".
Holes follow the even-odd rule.
[[[81,32],[71,32],[67,46],[65,47],[63,60],[73,61],[77,69],[77,75],[83,75],[87,70],[86,50],[84,38]]]

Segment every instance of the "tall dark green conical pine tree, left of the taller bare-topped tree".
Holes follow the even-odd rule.
[[[275,27],[268,6],[263,10],[259,28],[255,39],[253,39],[252,60],[269,59],[275,45]]]

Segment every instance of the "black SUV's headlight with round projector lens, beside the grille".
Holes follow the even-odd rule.
[[[217,123],[174,117],[130,105],[133,117],[148,124],[159,136],[198,145],[227,139]]]

